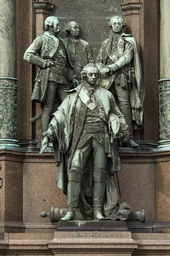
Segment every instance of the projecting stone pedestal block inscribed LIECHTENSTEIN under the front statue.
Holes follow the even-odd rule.
[[[54,255],[131,256],[138,244],[131,232],[55,232],[48,244]]]

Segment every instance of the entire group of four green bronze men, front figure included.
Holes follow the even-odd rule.
[[[86,220],[126,220],[132,212],[119,201],[112,175],[122,170],[118,143],[139,146],[133,131],[143,126],[144,85],[136,41],[123,33],[123,18],[112,17],[109,26],[113,35],[96,61],[79,38],[78,23],[66,25],[62,40],[53,16],[24,55],[39,67],[31,99],[43,103],[42,147],[53,143],[57,186],[68,197],[63,221],[73,220],[77,207]]]

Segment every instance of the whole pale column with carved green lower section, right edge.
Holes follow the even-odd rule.
[[[170,1],[160,1],[159,150],[170,150]]]

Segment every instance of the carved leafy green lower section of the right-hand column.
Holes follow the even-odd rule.
[[[159,80],[159,145],[170,150],[170,79]]]

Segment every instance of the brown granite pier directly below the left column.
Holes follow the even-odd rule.
[[[14,148],[14,147],[13,147]],[[0,150],[0,233],[24,232],[22,152]]]

